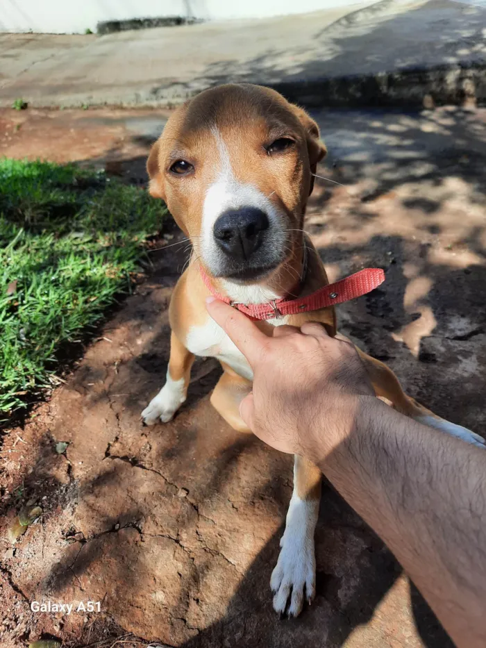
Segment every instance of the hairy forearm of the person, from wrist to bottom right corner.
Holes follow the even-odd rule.
[[[360,399],[355,429],[333,445],[324,440],[317,450],[322,472],[383,538],[457,645],[486,645],[486,452],[373,397]]]

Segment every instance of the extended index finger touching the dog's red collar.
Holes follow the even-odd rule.
[[[260,357],[263,346],[268,342],[267,335],[262,333],[246,315],[220,299],[207,297],[206,308],[212,319],[221,326],[221,329],[224,329],[253,366]]]

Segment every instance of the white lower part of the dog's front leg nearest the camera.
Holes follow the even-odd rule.
[[[315,596],[314,529],[317,515],[308,510],[306,502],[300,500],[296,504],[292,500],[270,587],[274,592],[274,610],[280,615],[287,610],[287,616],[296,617],[301,613],[304,599],[310,604]]]

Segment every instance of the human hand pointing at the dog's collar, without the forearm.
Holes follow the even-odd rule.
[[[349,434],[360,397],[374,396],[352,344],[330,338],[317,322],[275,326],[269,337],[223,301],[206,302],[253,369],[253,391],[242,400],[240,415],[255,435],[316,460]]]

